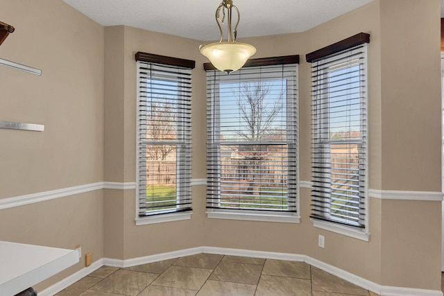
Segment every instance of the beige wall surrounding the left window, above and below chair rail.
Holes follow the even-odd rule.
[[[116,40],[115,46],[108,46]],[[205,155],[205,137],[202,136],[205,135],[205,72],[202,68],[204,57],[197,50],[200,42],[114,26],[105,28],[105,44],[105,85],[110,87],[105,90],[105,166],[110,163],[118,168],[115,171],[105,169],[105,181],[135,181],[137,51],[197,61],[192,82],[192,148],[194,159],[202,159]],[[108,130],[106,122],[111,121],[117,121],[112,125],[119,125],[118,132]],[[205,178],[205,158],[194,162],[193,177]],[[112,209],[105,210],[105,256],[130,259],[204,245],[199,228],[205,219],[205,189],[194,189],[193,196],[196,198],[191,220],[136,227],[135,191],[105,191],[105,208]]]

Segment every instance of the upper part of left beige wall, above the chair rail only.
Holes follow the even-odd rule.
[[[0,198],[102,181],[103,27],[58,0],[1,6],[15,27],[1,58],[42,76],[1,67],[0,120],[45,130],[0,131]]]

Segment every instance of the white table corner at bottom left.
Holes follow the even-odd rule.
[[[15,295],[78,262],[76,250],[0,241],[0,295]]]

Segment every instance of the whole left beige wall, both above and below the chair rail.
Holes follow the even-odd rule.
[[[0,66],[0,120],[44,125],[44,132],[0,129],[0,198],[103,181],[102,26],[60,0],[0,0],[15,27],[0,58],[42,76]],[[0,240],[92,252],[103,257],[103,192],[0,211]],[[37,285],[42,290],[82,269]]]

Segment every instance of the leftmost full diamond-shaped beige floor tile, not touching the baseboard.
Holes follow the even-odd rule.
[[[117,272],[114,272],[99,284],[90,288],[90,290],[135,296],[142,292],[158,276],[147,272],[117,270]]]

